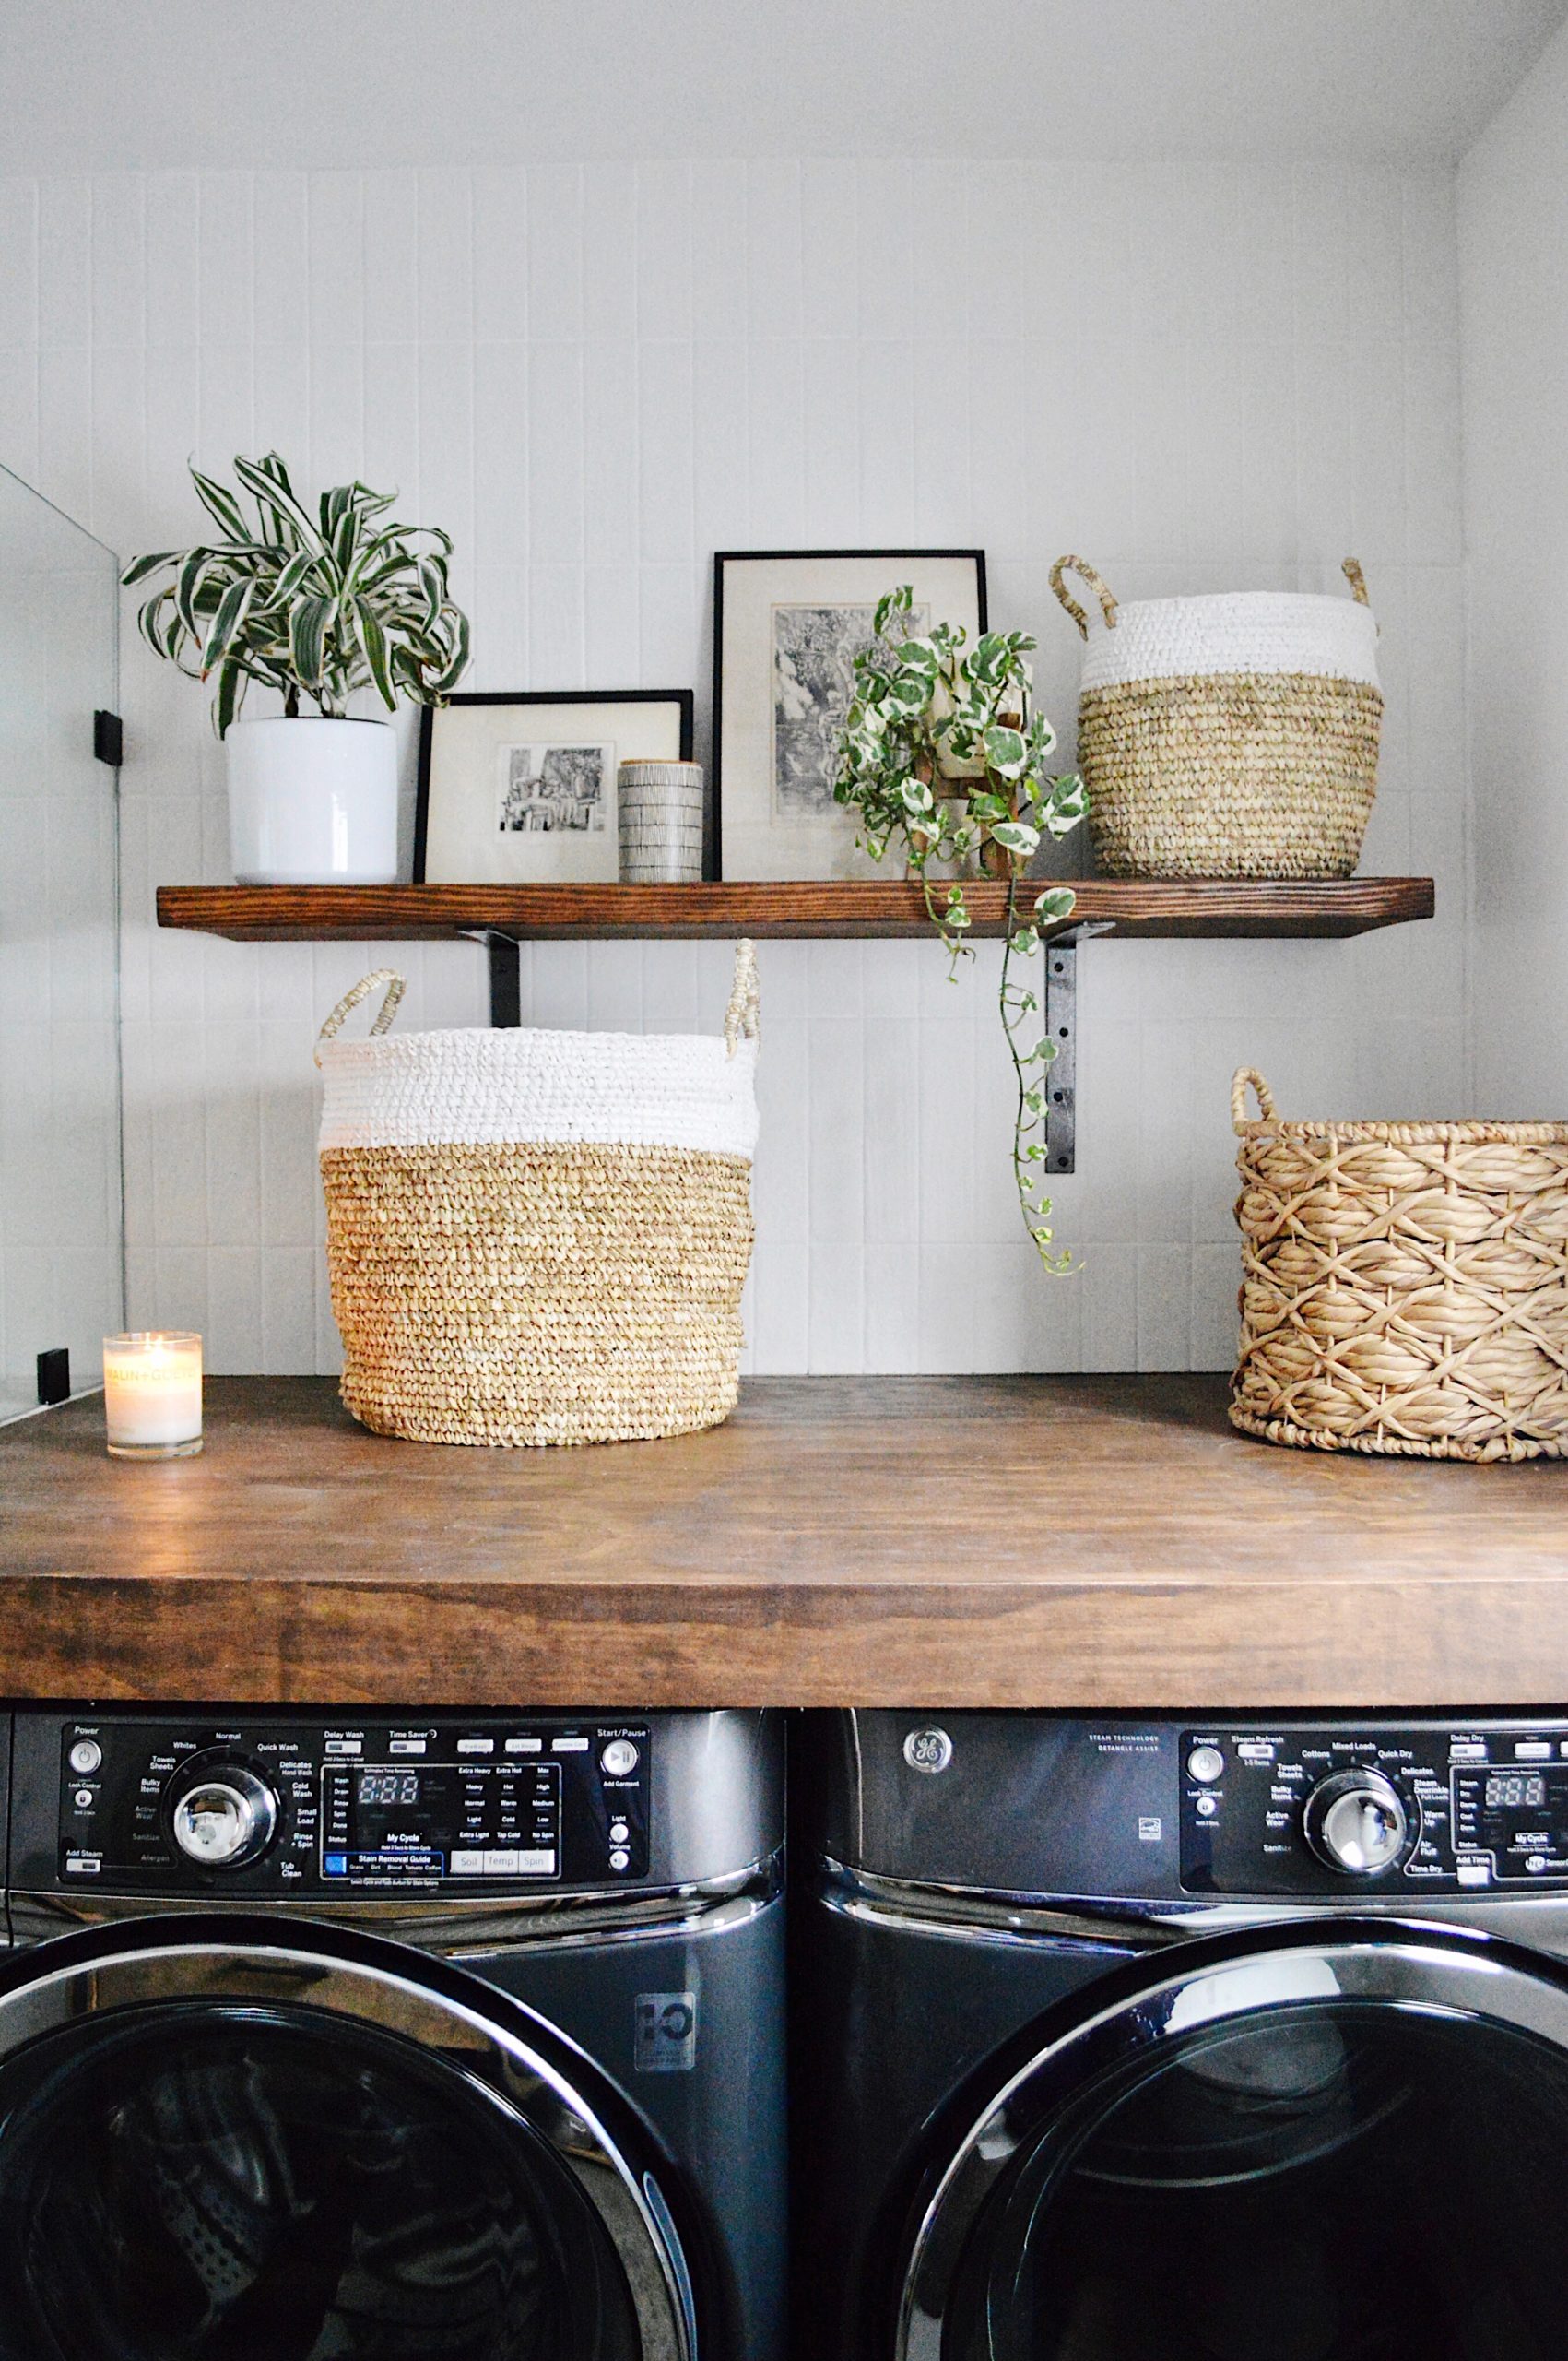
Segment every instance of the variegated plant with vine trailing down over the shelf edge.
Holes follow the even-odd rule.
[[[987,630],[971,649],[968,633],[949,623],[919,635],[909,630],[912,607],[909,586],[890,590],[876,607],[871,642],[855,656],[834,796],[860,815],[860,843],[871,859],[902,843],[954,977],[959,961],[973,956],[971,911],[963,876],[937,871],[980,866],[1006,878],[999,1006],[1018,1081],[1013,1178],[1044,1268],[1063,1273],[1070,1258],[1051,1251],[1051,1199],[1041,1188],[1056,1041],[1020,963],[1072,916],[1070,885],[1034,892],[1025,871],[1044,838],[1077,829],[1084,781],[1046,767],[1056,732],[1034,711],[1037,642],[1023,630]]]

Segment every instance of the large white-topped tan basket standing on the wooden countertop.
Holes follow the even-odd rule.
[[[333,1039],[380,985],[371,1039]],[[401,992],[390,968],[366,975],[316,1044],[347,1407],[418,1443],[718,1426],[751,1263],[751,944],[723,1036],[385,1039]]]

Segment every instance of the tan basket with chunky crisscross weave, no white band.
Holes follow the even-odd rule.
[[[1563,1457],[1568,1124],[1282,1124],[1249,1067],[1230,1119],[1233,1426],[1322,1452]]]

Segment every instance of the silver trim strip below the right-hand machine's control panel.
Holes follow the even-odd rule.
[[[1030,1894],[989,1894],[975,1886],[919,1884],[907,1877],[874,1877],[838,1860],[819,1863],[819,1901],[843,1917],[871,1924],[919,1924],[933,1936],[994,1943],[1091,1945],[1112,1953],[1169,1950],[1211,1934],[1244,1934],[1261,1927],[1341,1917],[1398,1924],[1455,1927],[1525,1943],[1554,1960],[1568,1960],[1568,1894],[1440,1896],[1348,1891],[1315,1901],[1207,1903],[1183,1901],[1041,1901]]]

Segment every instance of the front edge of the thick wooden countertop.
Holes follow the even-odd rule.
[[[1030,1709],[1226,1707],[1523,1707],[1568,1693],[1568,1584],[1492,1582],[1485,1627],[1464,1587],[1431,1594],[1410,1582],[1367,1580],[1358,1591],[1320,1591],[1304,1639],[1306,1584],[1278,1584],[1223,1601],[1143,1584],[1136,1598],[1103,1589],[1027,1591],[975,1601],[834,1594],[829,1605],[756,1620],[756,1594],[699,1591],[690,1613],[671,1601],[621,1594],[553,1594],[541,1608],[494,1587],[453,1589],[444,1613],[420,1613],[406,1634],[406,1591],[293,1584],[262,1601],[234,1639],[234,1605],[217,1584],[215,1620],[191,1679],[189,1594],[163,1596],[128,1629],[113,1582],[83,1591],[43,1584],[26,1646],[7,1617],[0,1693],[12,1698],[116,1698],[168,1702],[222,1698],[276,1705],[893,1705]],[[597,1608],[597,1613],[593,1613]],[[1133,1613],[1129,1613],[1129,1608]],[[231,1627],[234,1629],[234,1627]],[[1514,1634],[1528,1631],[1528,1646]],[[961,1634],[961,1643],[954,1641]],[[1455,1665],[1464,1679],[1455,1679]]]

